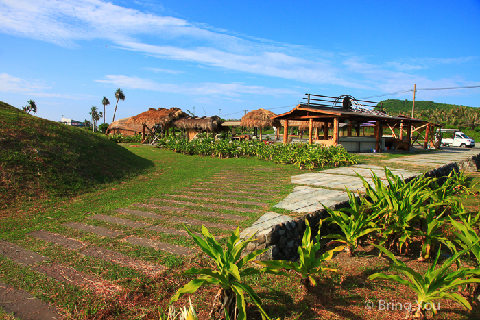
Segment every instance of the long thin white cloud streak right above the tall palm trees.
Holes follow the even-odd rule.
[[[241,83],[219,84],[219,83],[202,83],[202,84],[162,84],[149,79],[141,79],[139,77],[128,77],[126,75],[106,75],[106,79],[95,80],[104,84],[115,84],[121,88],[141,89],[160,91],[165,93],[181,93],[183,95],[199,95],[199,96],[226,96],[239,97],[243,93],[252,95],[299,95],[297,91],[289,89],[275,89],[263,86],[249,86]]]

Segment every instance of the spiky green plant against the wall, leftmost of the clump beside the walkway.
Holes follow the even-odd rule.
[[[376,219],[379,217],[380,211],[370,212],[365,205],[365,197],[359,202],[354,193],[348,189],[346,189],[346,191],[348,198],[350,198],[350,208],[331,210],[324,206],[326,212],[330,214],[330,217],[322,220],[323,222],[336,223],[341,231],[344,232],[344,236],[331,234],[329,236],[323,236],[322,238],[333,238],[341,243],[345,243],[348,254],[355,256],[359,238],[380,230],[379,227],[376,227],[378,224]]]

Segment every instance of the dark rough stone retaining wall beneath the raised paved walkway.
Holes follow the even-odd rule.
[[[462,160],[461,162],[451,162],[445,164],[442,167],[427,171],[425,173],[426,177],[442,177],[448,176],[451,171],[470,171],[475,172],[480,169],[480,154]],[[406,181],[415,179],[415,177],[410,177]],[[443,183],[440,181],[440,183]],[[335,206],[331,206],[331,209],[338,210],[339,208],[344,208],[348,206],[348,201],[340,202]],[[278,225],[274,225],[272,230],[267,234],[259,236],[257,241],[249,243],[247,248],[243,251],[243,255],[249,254],[254,250],[268,248],[268,251],[265,252],[262,256],[259,256],[260,260],[291,260],[295,261],[298,259],[297,249],[302,244],[302,238],[305,231],[305,219],[309,221],[309,224],[312,228],[312,234],[318,233],[318,223],[320,220],[328,217],[325,209],[312,212],[310,214],[304,215],[303,217],[298,217],[292,219],[291,221],[286,221]],[[331,223],[323,223],[322,229],[320,230],[323,236],[328,234],[341,234],[341,230],[338,225]],[[326,240],[324,241],[326,243]]]

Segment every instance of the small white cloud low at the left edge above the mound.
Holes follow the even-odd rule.
[[[86,99],[87,97],[63,95],[61,93],[45,93],[44,91],[51,89],[39,80],[25,80],[9,75],[8,73],[0,73],[0,92],[3,93],[19,93],[32,97],[56,97],[64,99]]]

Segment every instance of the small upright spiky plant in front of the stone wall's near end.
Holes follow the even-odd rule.
[[[335,249],[326,251],[324,254],[317,256],[317,252],[320,250],[320,226],[318,227],[318,234],[310,240],[311,238],[311,228],[308,220],[305,220],[306,227],[305,233],[302,238],[302,246],[298,247],[298,254],[300,259],[298,262],[291,261],[256,261],[257,264],[267,267],[272,270],[287,269],[293,270],[300,274],[302,280],[302,286],[308,289],[311,286],[316,286],[317,282],[313,275],[318,273],[324,273],[325,271],[340,273],[337,269],[331,269],[326,267],[321,267],[322,263],[333,258],[333,254],[337,251],[342,251],[345,246],[335,247]]]

